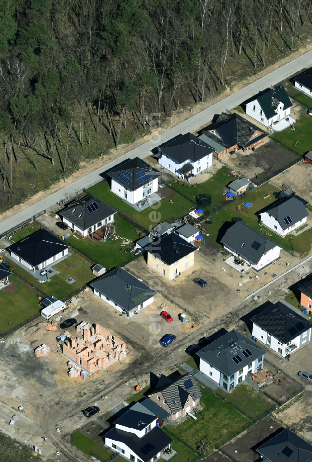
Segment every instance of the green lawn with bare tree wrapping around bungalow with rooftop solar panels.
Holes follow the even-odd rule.
[[[125,237],[130,241],[138,239],[138,233],[134,225],[131,225],[127,220],[115,214],[116,235]],[[133,247],[131,242],[124,247],[121,247],[123,239],[110,238],[106,242],[95,243],[89,238],[82,238],[77,233],[70,236],[66,240],[67,243],[72,245],[75,249],[79,250],[82,254],[91,258],[95,263],[101,263],[107,269],[117,266],[124,266],[134,258],[133,253],[125,253],[124,249]]]

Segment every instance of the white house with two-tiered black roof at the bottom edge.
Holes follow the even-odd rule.
[[[172,439],[156,425],[156,415],[139,412],[132,407],[115,420],[104,433],[105,445],[130,462],[153,462]]]

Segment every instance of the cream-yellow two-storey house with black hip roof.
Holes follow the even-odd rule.
[[[196,247],[174,232],[156,238],[146,249],[147,265],[167,279],[194,266]]]

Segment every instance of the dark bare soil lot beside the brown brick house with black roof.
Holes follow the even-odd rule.
[[[267,138],[255,151],[243,153],[239,149],[232,156],[226,154],[222,160],[259,186],[298,162],[300,158]]]

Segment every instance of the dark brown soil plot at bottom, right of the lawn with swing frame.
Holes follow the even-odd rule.
[[[259,456],[251,448],[261,443],[263,439],[267,438],[280,427],[281,424],[279,422],[276,422],[271,417],[266,417],[232,440],[231,443],[223,446],[223,450],[232,457],[232,460],[234,459],[237,462],[256,462]],[[218,461],[219,459],[216,460]],[[207,462],[212,461],[214,459],[207,460]]]

